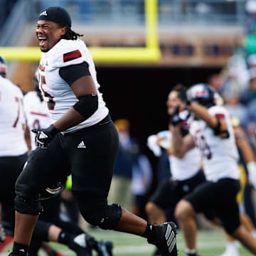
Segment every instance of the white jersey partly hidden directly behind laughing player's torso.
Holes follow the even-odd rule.
[[[36,149],[36,134],[31,129],[42,129],[50,125],[49,112],[46,108],[46,102],[41,101],[37,92],[28,92],[23,98],[24,112],[31,136],[31,149]]]

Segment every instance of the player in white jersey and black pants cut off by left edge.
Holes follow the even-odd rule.
[[[0,57],[0,201],[6,233],[14,230],[14,186],[28,159],[24,137],[23,93],[6,78],[6,61]],[[3,241],[2,241],[3,242]]]

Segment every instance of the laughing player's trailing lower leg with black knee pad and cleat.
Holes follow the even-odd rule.
[[[88,223],[103,229],[117,230],[147,238],[156,245],[163,256],[176,256],[176,226],[174,223],[149,225],[146,220],[134,215],[118,204],[107,205],[107,200],[92,198],[74,193],[78,198],[80,213]]]

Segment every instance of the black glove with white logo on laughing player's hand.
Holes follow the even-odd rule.
[[[51,124],[46,129],[32,129],[32,132],[36,134],[36,146],[41,147],[42,149],[47,149],[55,135],[60,131],[56,129],[53,124]]]

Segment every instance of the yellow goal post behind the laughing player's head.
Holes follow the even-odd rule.
[[[89,47],[95,63],[156,63],[161,58],[158,39],[157,0],[145,1],[145,47]],[[39,47],[0,47],[6,60],[38,62]]]

